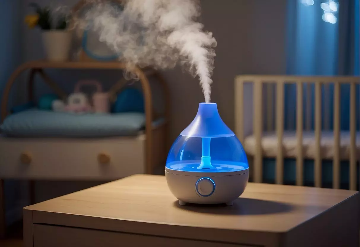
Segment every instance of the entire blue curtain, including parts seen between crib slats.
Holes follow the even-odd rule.
[[[359,75],[359,0],[288,0],[287,74],[304,76]],[[330,4],[336,8],[327,9]],[[329,7],[328,7],[329,8]],[[336,10],[336,11],[333,11]],[[331,15],[329,21],[325,14]],[[324,89],[323,89],[324,90]],[[314,85],[311,101],[314,102]],[[295,85],[285,86],[285,120],[294,118],[296,108]],[[333,86],[329,87],[330,119],[333,113]],[[349,129],[350,86],[341,86],[341,129]],[[359,102],[359,86],[356,90]],[[305,97],[305,96],[304,96]],[[323,97],[324,98],[324,97]],[[305,101],[309,99],[304,98]],[[359,107],[359,105],[357,105]],[[313,107],[314,108],[314,107]],[[359,108],[358,108],[359,109]],[[313,109],[314,110],[314,109]],[[359,114],[357,119],[359,126]],[[314,111],[312,112],[312,122]],[[295,121],[286,122],[286,129],[294,129]],[[330,121],[330,128],[333,123]]]

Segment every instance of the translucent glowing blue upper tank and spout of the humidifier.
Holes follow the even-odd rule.
[[[166,168],[184,172],[234,172],[249,168],[239,139],[220,118],[216,103],[200,103],[198,113],[175,140]]]

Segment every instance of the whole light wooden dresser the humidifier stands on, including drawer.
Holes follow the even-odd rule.
[[[26,247],[359,246],[359,193],[249,183],[234,206],[179,206],[134,175],[24,208]]]

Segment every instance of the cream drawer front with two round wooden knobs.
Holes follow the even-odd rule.
[[[0,138],[1,178],[114,180],[145,172],[145,139]]]

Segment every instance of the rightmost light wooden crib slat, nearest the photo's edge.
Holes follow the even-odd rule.
[[[350,189],[356,190],[356,84],[350,82]]]

